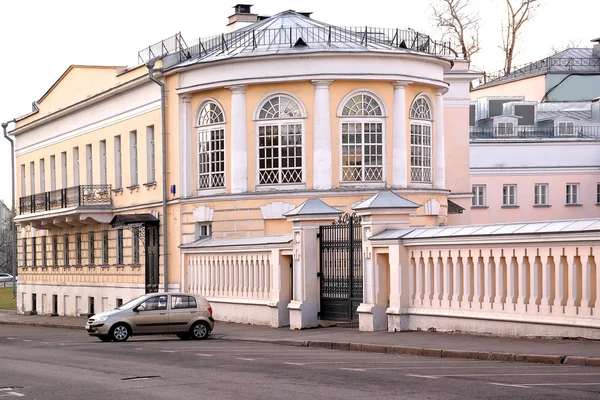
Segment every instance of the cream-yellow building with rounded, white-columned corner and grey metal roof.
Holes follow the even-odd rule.
[[[286,215],[305,201],[352,212],[393,190],[414,204],[405,225],[470,222],[467,62],[414,31],[249,18],[238,7],[231,33],[140,53],[165,85],[164,149],[144,64],[74,65],[18,119],[20,312],[205,293],[204,276],[221,319],[281,326],[306,272],[293,236],[331,223]]]

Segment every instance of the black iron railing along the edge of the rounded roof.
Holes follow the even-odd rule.
[[[301,39],[301,40],[300,40]],[[280,27],[240,29],[221,35],[199,38],[187,45],[180,33],[138,52],[138,60],[145,63],[155,57],[180,53],[180,61],[234,50],[254,51],[271,46],[280,49],[297,45],[321,44],[343,49],[344,44],[402,48],[437,56],[457,56],[450,42],[435,41],[430,36],[414,30],[373,27]]]

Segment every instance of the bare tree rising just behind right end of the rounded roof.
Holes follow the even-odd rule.
[[[437,26],[458,44],[465,60],[481,50],[479,12],[473,10],[471,0],[436,0],[431,8]]]

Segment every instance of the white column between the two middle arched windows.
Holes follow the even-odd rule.
[[[312,81],[315,86],[315,129],[313,131],[313,189],[331,189],[331,106],[329,85],[332,81]]]

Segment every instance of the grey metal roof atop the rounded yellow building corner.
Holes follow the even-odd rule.
[[[190,42],[171,64],[182,67],[218,60],[313,52],[391,52],[451,56],[449,43],[414,30],[337,27],[288,10],[236,31]]]

